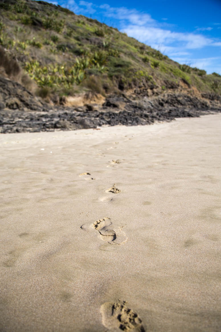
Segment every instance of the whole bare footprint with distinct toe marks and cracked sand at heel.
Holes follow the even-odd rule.
[[[108,217],[98,219],[92,227],[98,230],[103,241],[110,244],[122,244],[127,241],[126,234],[121,230],[122,227],[114,228]]]

